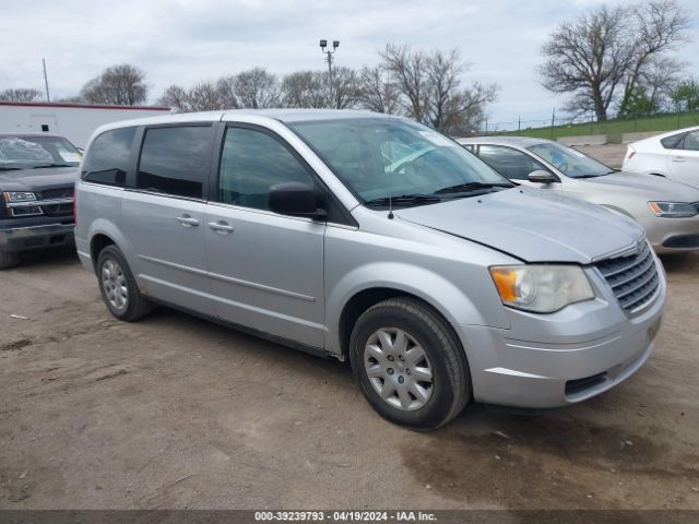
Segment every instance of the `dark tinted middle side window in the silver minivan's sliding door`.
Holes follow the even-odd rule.
[[[139,162],[138,189],[202,199],[211,163],[211,126],[146,130]]]

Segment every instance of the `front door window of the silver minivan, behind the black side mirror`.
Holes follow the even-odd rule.
[[[261,131],[228,128],[221,155],[218,199],[269,210],[270,188],[281,182],[313,183],[313,178],[281,142]]]

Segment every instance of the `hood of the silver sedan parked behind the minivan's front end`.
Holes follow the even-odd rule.
[[[619,171],[602,177],[579,179],[587,188],[637,194],[648,201],[699,202],[699,189],[663,177]]]

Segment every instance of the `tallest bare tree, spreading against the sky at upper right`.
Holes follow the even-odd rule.
[[[549,35],[542,48],[542,84],[569,95],[566,109],[573,116],[593,110],[597,120],[606,120],[619,96],[620,112],[626,111],[653,58],[684,41],[688,24],[676,0],[603,4]]]

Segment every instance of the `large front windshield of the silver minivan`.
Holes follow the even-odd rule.
[[[366,205],[422,205],[513,187],[458,143],[402,118],[292,122]]]

